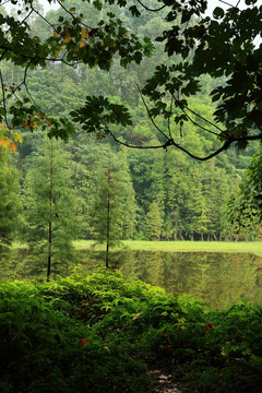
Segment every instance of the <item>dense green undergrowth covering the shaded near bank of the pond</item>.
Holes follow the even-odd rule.
[[[214,311],[99,271],[1,283],[0,310],[4,393],[150,393],[154,367],[194,393],[261,392],[259,306]]]

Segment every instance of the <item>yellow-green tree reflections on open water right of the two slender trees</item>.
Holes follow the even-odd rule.
[[[171,294],[191,294],[225,308],[240,298],[262,303],[259,283],[259,257],[252,254],[206,252],[134,252],[134,263],[122,271],[164,287]],[[133,269],[133,271],[132,271]],[[260,277],[260,279],[259,279]]]

